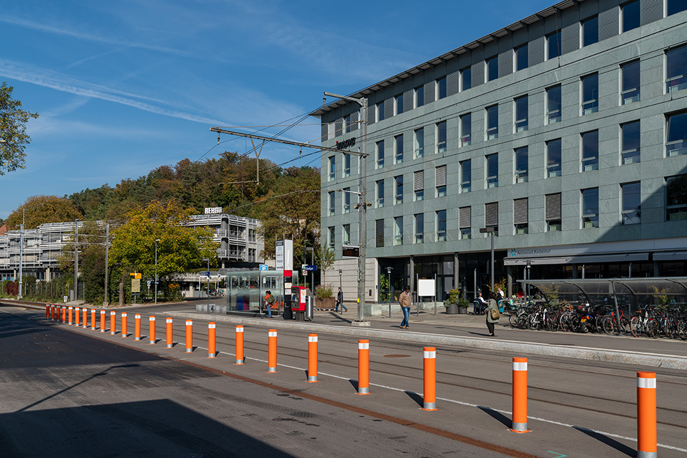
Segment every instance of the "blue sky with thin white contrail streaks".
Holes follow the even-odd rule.
[[[246,152],[245,139],[216,146],[210,127],[291,124],[323,91],[363,89],[552,3],[5,0],[0,80],[40,117],[26,168],[0,176],[0,218],[30,196]],[[317,141],[316,122],[286,138]],[[261,157],[297,155],[273,144]]]

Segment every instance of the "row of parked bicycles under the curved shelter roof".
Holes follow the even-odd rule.
[[[687,341],[687,307],[648,305],[627,317],[624,310],[609,305],[512,304],[504,301],[512,328],[563,332],[632,334],[657,339]]]

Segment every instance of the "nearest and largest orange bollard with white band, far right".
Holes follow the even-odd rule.
[[[637,458],[656,458],[656,373],[637,372]]]

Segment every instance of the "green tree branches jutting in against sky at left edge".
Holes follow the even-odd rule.
[[[38,113],[21,109],[21,102],[12,98],[14,88],[3,81],[0,86],[0,175],[24,168],[24,149],[31,142],[26,123]]]

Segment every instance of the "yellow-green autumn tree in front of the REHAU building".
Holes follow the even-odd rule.
[[[128,273],[142,273],[143,279],[155,279],[155,240],[157,242],[157,275],[166,299],[174,293],[174,274],[216,261],[217,242],[207,227],[184,227],[193,209],[184,208],[176,200],[153,201],[147,207],[136,207],[127,221],[113,231],[109,265],[113,278],[125,278]]]

